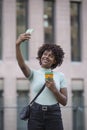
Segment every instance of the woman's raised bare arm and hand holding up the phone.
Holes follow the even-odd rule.
[[[24,61],[23,56],[21,54],[20,45],[25,40],[29,40],[30,37],[31,37],[30,34],[23,33],[23,34],[20,34],[20,36],[16,40],[16,58],[17,58],[19,67],[21,68],[22,72],[24,73],[24,75],[26,77],[30,76],[31,71],[30,71],[30,68],[25,64],[25,61]]]

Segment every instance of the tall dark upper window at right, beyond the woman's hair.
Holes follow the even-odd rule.
[[[71,2],[71,60],[81,61],[80,2]]]

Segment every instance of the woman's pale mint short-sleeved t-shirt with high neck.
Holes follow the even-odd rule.
[[[30,81],[31,91],[33,92],[33,98],[39,92],[43,84],[45,83],[45,72],[51,71],[51,69],[41,68],[39,70],[31,70],[31,76],[28,78]],[[64,74],[61,72],[53,71],[53,78],[57,89],[66,87],[66,80]],[[53,105],[58,103],[52,91],[45,87],[41,94],[37,97],[35,102],[42,105]]]

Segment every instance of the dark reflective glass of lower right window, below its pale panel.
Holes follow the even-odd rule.
[[[83,91],[73,91],[73,130],[84,130]]]

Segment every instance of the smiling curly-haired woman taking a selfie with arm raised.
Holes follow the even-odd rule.
[[[45,89],[31,107],[31,116],[28,121],[29,130],[63,130],[61,110],[59,104],[67,104],[67,88],[64,74],[54,72],[53,69],[61,66],[64,52],[59,45],[43,44],[37,53],[41,69],[34,70],[26,65],[20,50],[20,44],[31,38],[30,34],[21,34],[16,41],[16,56],[19,67],[31,83],[34,95],[38,93],[44,83]],[[53,72],[53,79],[45,79],[46,72]]]

